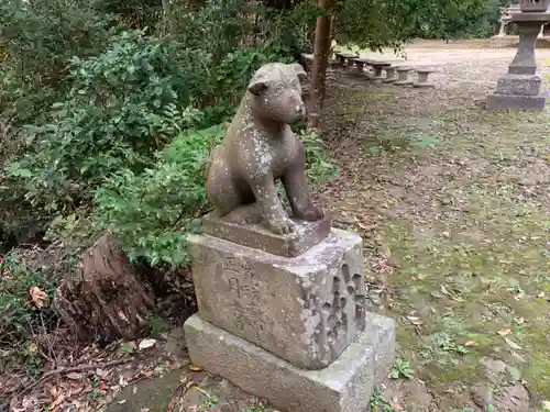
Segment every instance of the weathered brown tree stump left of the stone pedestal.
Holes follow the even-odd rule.
[[[59,285],[54,309],[79,338],[134,339],[146,330],[154,302],[151,286],[106,233],[84,253],[74,278]]]

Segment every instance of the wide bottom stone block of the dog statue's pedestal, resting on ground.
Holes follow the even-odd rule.
[[[395,357],[395,323],[369,329],[330,366],[304,370],[194,315],[185,323],[191,361],[285,412],[364,412]]]

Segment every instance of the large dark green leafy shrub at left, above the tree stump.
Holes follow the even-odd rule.
[[[99,56],[73,59],[66,100],[53,105],[50,123],[25,129],[28,152],[7,167],[33,205],[66,211],[90,200],[111,174],[141,171],[198,121],[196,110],[182,109],[194,77],[174,62],[177,47],[123,32]]]

